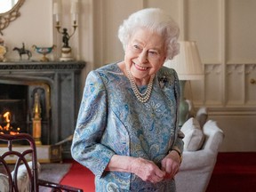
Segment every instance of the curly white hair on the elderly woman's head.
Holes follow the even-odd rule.
[[[172,59],[180,52],[178,37],[180,28],[171,16],[159,8],[147,8],[132,13],[119,27],[118,38],[123,44],[124,51],[134,31],[138,28],[148,28],[164,37],[166,59]]]

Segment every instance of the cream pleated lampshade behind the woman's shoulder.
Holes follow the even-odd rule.
[[[173,60],[164,63],[174,68],[180,80],[199,80],[204,78],[203,65],[195,41],[180,41],[180,53]]]

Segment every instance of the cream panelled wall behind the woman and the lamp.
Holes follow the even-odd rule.
[[[256,2],[254,0],[93,1],[95,68],[122,60],[119,25],[132,12],[159,7],[180,25],[180,40],[197,42],[204,80],[187,84],[187,99],[209,108],[225,132],[222,151],[256,151]]]

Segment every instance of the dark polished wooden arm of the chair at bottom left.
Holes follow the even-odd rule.
[[[81,188],[74,188],[66,185],[60,185],[57,183],[53,183],[47,180],[38,180],[38,186],[43,186],[46,188],[52,188],[53,192],[57,191],[70,191],[70,192],[83,192],[84,190]]]

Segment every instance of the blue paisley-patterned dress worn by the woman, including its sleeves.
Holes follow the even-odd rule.
[[[140,92],[147,85],[139,87]],[[130,172],[104,171],[113,155],[155,162],[172,148],[183,150],[178,126],[179,80],[173,69],[156,73],[150,99],[141,103],[117,63],[91,71],[86,79],[71,154],[95,174],[98,192],[175,191],[174,180],[153,184]]]

